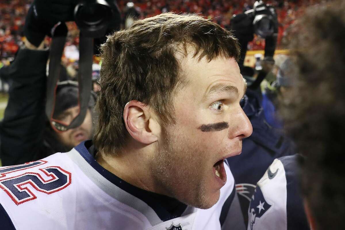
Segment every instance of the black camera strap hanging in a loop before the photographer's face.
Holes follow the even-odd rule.
[[[68,129],[76,128],[82,124],[88,109],[90,91],[92,87],[92,57],[93,57],[93,39],[79,38],[79,71],[78,71],[78,106],[79,113],[70,124],[53,119],[53,113],[56,103],[56,89],[60,77],[60,62],[65,47],[66,37],[52,37],[49,54],[49,72],[47,80],[47,102],[46,114],[49,118],[52,128],[57,132],[63,132]]]

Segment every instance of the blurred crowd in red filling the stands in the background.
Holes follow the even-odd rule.
[[[289,43],[287,32],[290,24],[300,16],[306,7],[318,0],[273,0],[266,1],[272,4],[278,15],[279,34],[278,49]],[[23,39],[23,25],[26,13],[32,0],[2,0],[0,2],[0,67],[9,64]],[[127,0],[119,0],[118,5],[124,14]],[[132,1],[140,18],[151,17],[162,12],[189,12],[200,13],[206,18],[213,19],[224,28],[230,28],[230,19],[233,14],[242,13],[252,8],[254,0],[134,0]],[[124,16],[124,15],[123,15]],[[122,17],[124,20],[124,17]],[[124,22],[123,22],[124,23]],[[123,24],[122,23],[122,24]],[[78,67],[79,31],[75,23],[68,23],[69,35],[66,43],[63,62],[71,76],[75,75]],[[47,41],[49,42],[49,41]],[[262,50],[265,40],[259,37],[249,42],[248,50]],[[96,60],[98,63],[98,60]]]

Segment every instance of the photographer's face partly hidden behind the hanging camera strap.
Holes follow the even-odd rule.
[[[71,123],[71,121],[77,117],[79,111],[79,107],[71,107],[63,111],[57,119],[63,121],[67,124]],[[57,133],[60,141],[69,149],[76,147],[80,142],[91,139],[92,134],[92,119],[91,113],[88,109],[86,112],[85,119],[83,123],[74,129],[69,129],[65,132]]]

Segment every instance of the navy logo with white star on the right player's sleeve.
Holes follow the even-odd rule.
[[[249,206],[249,224],[251,230],[253,230],[256,218],[262,217],[271,206],[272,205],[265,200],[260,187],[256,186]]]

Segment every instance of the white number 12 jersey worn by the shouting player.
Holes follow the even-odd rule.
[[[91,145],[87,141],[67,153],[1,167],[0,229],[245,228],[227,165],[220,199],[203,210],[121,180],[96,162],[88,150]]]

